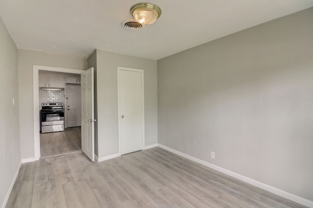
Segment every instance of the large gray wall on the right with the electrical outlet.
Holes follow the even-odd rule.
[[[313,201],[313,8],[157,64],[158,143]]]

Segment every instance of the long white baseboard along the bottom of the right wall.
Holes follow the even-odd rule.
[[[217,170],[217,171],[219,171],[219,172],[222,172],[222,173],[224,173],[224,174],[226,174],[226,175],[228,175],[228,176],[231,176],[231,177],[233,177],[233,178],[236,178],[236,179],[239,179],[239,180],[241,180],[241,181],[244,181],[244,182],[246,182],[246,183],[248,183],[248,184],[257,186],[257,187],[259,187],[259,188],[262,188],[262,189],[264,189],[264,190],[267,190],[267,191],[269,191],[269,192],[272,192],[272,193],[274,193],[274,194],[277,194],[277,195],[279,195],[279,196],[282,196],[282,197],[284,197],[284,198],[286,198],[286,199],[289,199],[289,200],[291,200],[291,201],[293,201],[293,202],[296,202],[296,203],[298,203],[298,204],[307,206],[307,207],[309,207],[309,208],[313,208],[313,202],[310,201],[310,200],[308,200],[308,199],[304,199],[304,198],[302,198],[302,197],[296,196],[296,195],[294,195],[294,194],[291,194],[291,193],[289,193],[289,192],[286,192],[286,191],[283,191],[283,190],[281,190],[281,189],[275,188],[275,187],[273,187],[273,186],[270,186],[270,185],[267,185],[267,184],[263,184],[262,182],[259,182],[259,181],[250,179],[250,178],[248,178],[248,177],[246,177],[246,176],[243,176],[243,175],[240,175],[240,174],[238,174],[238,173],[232,172],[232,171],[230,171],[230,170],[227,170],[227,169],[222,168],[222,167],[220,167],[220,166],[214,165],[214,164],[212,164],[212,163],[202,161],[202,160],[200,160],[200,159],[198,159],[198,158],[195,158],[195,157],[192,157],[192,156],[187,155],[187,154],[185,154],[185,153],[179,152],[179,151],[177,151],[177,150],[175,150],[175,149],[172,149],[172,148],[170,148],[170,147],[164,146],[164,145],[162,145],[162,144],[158,144],[157,146],[159,146],[159,147],[161,147],[161,148],[163,148],[163,149],[165,149],[165,150],[167,150],[167,151],[169,151],[169,152],[172,152],[172,153],[174,153],[174,154],[177,154],[177,155],[179,155],[179,156],[181,156],[181,157],[187,158],[187,159],[189,159],[189,160],[191,160],[191,161],[194,161],[194,162],[198,162],[198,163],[200,163],[200,164],[202,164],[202,165],[204,165],[204,166],[207,166],[207,167],[209,167],[209,168],[212,168],[212,169],[214,169],[214,170]]]

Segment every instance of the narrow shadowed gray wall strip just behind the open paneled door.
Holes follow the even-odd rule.
[[[88,69],[93,67],[93,80],[94,80],[94,118],[97,119],[97,50],[89,56],[87,60]],[[98,157],[98,122],[94,122],[94,154]]]

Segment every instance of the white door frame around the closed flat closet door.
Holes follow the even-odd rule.
[[[136,71],[141,73],[141,94],[142,94],[142,149],[145,147],[145,103],[144,103],[144,70],[142,69],[131,69],[131,68],[124,68],[124,67],[117,67],[117,105],[118,105],[118,151],[119,155],[121,155],[121,112],[120,112],[120,89],[119,89],[119,72],[120,70],[127,70],[127,71]]]

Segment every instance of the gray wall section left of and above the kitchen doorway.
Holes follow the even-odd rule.
[[[33,65],[86,69],[87,60],[50,53],[19,50],[20,135],[22,159],[34,157]],[[39,114],[39,112],[38,112]]]

